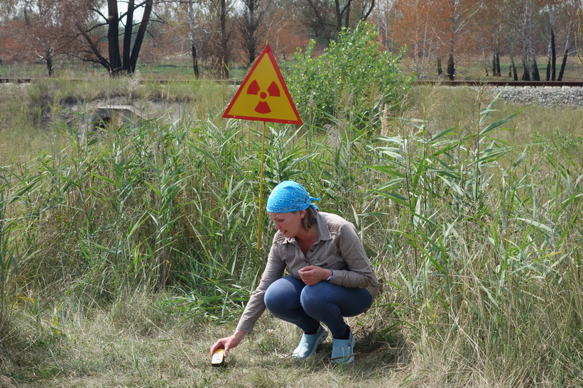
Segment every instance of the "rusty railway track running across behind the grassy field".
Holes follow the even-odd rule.
[[[38,78],[34,77],[0,77],[0,84],[31,84]],[[71,79],[80,82],[87,79]],[[168,82],[189,82],[187,79],[156,79],[162,84]],[[237,81],[231,81],[237,83]],[[418,85],[442,85],[447,87],[462,86],[492,86],[492,87],[583,87],[583,81],[435,81],[419,79],[415,81]]]

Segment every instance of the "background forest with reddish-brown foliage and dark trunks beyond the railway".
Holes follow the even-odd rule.
[[[266,41],[281,60],[359,21],[418,78],[561,80],[577,55],[580,0],[2,0],[0,64],[44,74],[156,67],[230,77]],[[574,63],[572,61],[571,63]],[[138,65],[139,63],[139,65]],[[92,64],[94,64],[92,66]],[[187,68],[188,67],[188,68]],[[175,69],[174,69],[175,70]],[[0,74],[17,75],[4,66]],[[19,74],[22,75],[22,74]]]

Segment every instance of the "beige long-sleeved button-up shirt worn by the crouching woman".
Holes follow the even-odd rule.
[[[263,301],[266,290],[283,276],[286,269],[290,275],[300,279],[298,271],[301,268],[320,264],[334,272],[331,283],[366,288],[373,300],[376,298],[378,279],[354,225],[340,216],[319,211],[316,226],[316,241],[306,255],[295,238],[286,238],[279,231],[273,236],[261,281],[251,294],[237,329],[246,333],[253,331],[257,319],[266,309]]]

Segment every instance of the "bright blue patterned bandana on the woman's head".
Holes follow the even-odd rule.
[[[276,186],[267,199],[267,211],[270,213],[289,213],[307,209],[312,206],[317,210],[317,206],[312,205],[312,201],[320,201],[307,194],[306,189],[299,183],[284,181]]]

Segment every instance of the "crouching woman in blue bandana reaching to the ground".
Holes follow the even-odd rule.
[[[257,289],[234,333],[217,340],[211,354],[235,348],[267,308],[298,326],[303,335],[292,357],[313,355],[332,333],[332,362],[354,360],[354,337],[344,317],[364,313],[378,292],[378,279],[356,228],[317,210],[318,201],[293,181],[273,189],[267,211],[276,234]],[[283,276],[287,270],[287,276]],[[283,276],[283,277],[282,277]]]

